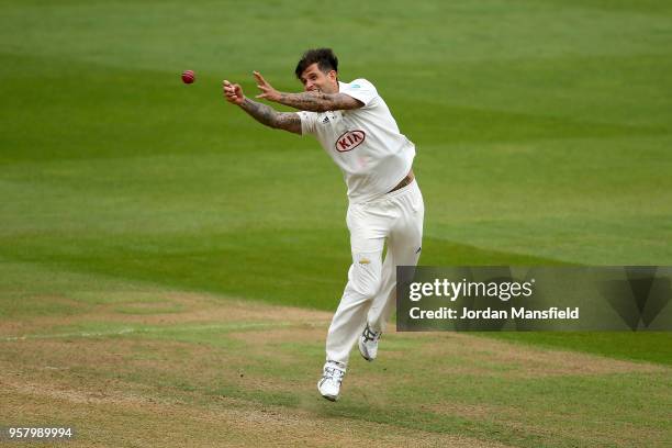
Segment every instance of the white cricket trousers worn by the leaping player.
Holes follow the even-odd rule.
[[[327,334],[327,361],[347,366],[367,324],[374,332],[385,329],[396,302],[396,266],[417,265],[424,215],[423,195],[415,180],[370,202],[348,206],[352,265]]]

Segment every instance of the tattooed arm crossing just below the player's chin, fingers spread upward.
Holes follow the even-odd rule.
[[[301,92],[301,93],[284,93],[272,88],[270,83],[260,72],[254,72],[257,79],[257,87],[261,90],[261,94],[257,98],[265,98],[269,101],[275,101],[280,104],[289,105],[290,108],[302,111],[326,112],[341,111],[348,109],[359,109],[363,103],[345,93],[323,93],[323,92]]]

